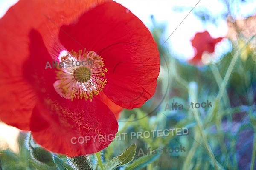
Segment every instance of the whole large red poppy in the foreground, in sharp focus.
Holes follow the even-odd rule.
[[[0,51],[0,119],[68,156],[107,147],[71,139],[116,134],[119,112],[153,96],[160,69],[148,29],[111,0],[20,0],[0,20]]]

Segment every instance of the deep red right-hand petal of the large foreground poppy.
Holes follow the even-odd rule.
[[[114,103],[131,109],[153,96],[160,69],[157,45],[128,9],[104,3],[81,16],[78,23],[61,28],[68,34],[60,32],[61,43],[69,51],[87,48],[103,58],[108,68],[103,91]]]

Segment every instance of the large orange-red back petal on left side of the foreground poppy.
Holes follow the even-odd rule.
[[[3,55],[0,57],[0,119],[2,121],[22,130],[29,130],[29,119],[36,103],[36,94],[32,86],[23,78],[23,63],[29,58],[28,35],[31,29],[37,29],[43,34],[47,48],[50,49],[58,40],[56,38],[59,32],[58,26],[73,22],[88,9],[106,1],[108,0],[20,0],[1,18],[0,51]],[[37,55],[33,57],[38,59]]]

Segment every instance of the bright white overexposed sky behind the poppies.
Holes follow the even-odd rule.
[[[5,14],[10,6],[18,0],[0,0],[0,17]],[[193,13],[200,9],[207,9],[212,15],[227,11],[221,0],[114,0],[134,13],[150,29],[152,28],[151,15],[158,23],[166,24],[163,39],[164,45],[174,57],[190,59],[194,56],[194,49],[190,40],[196,32],[207,30],[212,37],[225,37],[227,34],[227,21],[220,19],[217,25],[204,24]],[[256,1],[246,0],[247,3],[236,3],[236,17],[241,19],[256,13]],[[194,8],[195,7],[195,8]],[[193,9],[194,8],[194,9]],[[176,9],[176,10],[175,10]],[[180,10],[178,10],[180,9]],[[193,9],[193,10],[192,10]],[[189,13],[192,10],[191,13]],[[188,15],[189,14],[189,15]],[[188,16],[187,16],[188,15]],[[186,17],[187,16],[187,17]],[[171,35],[172,34],[172,35]],[[169,37],[171,35],[171,37]],[[169,38],[168,38],[169,37]],[[222,55],[232,48],[227,39],[223,39],[216,46],[216,51]]]

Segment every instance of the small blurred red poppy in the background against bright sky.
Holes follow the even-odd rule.
[[[195,56],[189,60],[192,65],[202,64],[202,55],[204,51],[213,53],[215,45],[220,42],[223,38],[212,38],[208,31],[198,32],[195,37],[191,40],[192,46],[195,47]]]

